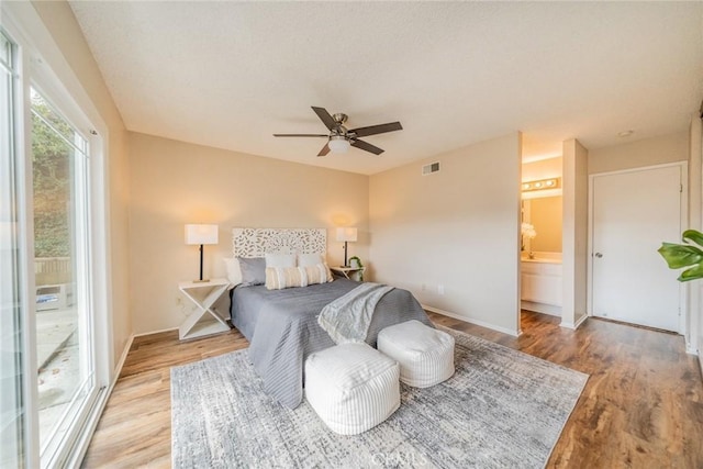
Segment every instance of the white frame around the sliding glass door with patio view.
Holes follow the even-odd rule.
[[[109,390],[116,379],[113,353],[112,289],[110,273],[110,185],[108,145],[110,135],[89,94],[66,62],[54,37],[31,2],[0,2],[0,26],[16,44],[18,77],[15,78],[14,134],[18,180],[18,248],[22,279],[21,308],[23,321],[22,361],[24,397],[24,465],[25,467],[78,466],[90,443]],[[36,367],[35,282],[33,273],[33,200],[30,87],[36,86],[52,104],[87,137],[91,148],[88,172],[90,206],[91,279],[90,309],[93,320],[94,373],[99,395],[81,424],[82,432],[57,453],[51,461],[40,459],[38,395]]]

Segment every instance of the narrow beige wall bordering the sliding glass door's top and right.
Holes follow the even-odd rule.
[[[100,69],[86,43],[74,13],[65,1],[32,2],[34,9],[52,34],[66,62],[80,81],[88,98],[108,125],[107,171],[110,185],[110,276],[112,283],[112,366],[116,365],[132,333],[127,283],[127,205],[129,168],[126,133],[122,118],[102,79]],[[54,66],[54,64],[52,64]],[[58,67],[58,65],[56,65]],[[103,137],[105,137],[103,135]]]

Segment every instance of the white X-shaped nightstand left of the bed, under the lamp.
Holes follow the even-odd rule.
[[[208,282],[185,281],[178,289],[197,306],[178,327],[178,338],[194,338],[230,331],[227,321],[222,317],[213,304],[227,291],[230,281],[212,279]]]

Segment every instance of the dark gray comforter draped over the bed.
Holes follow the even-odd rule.
[[[305,358],[335,345],[317,324],[317,315],[327,303],[357,286],[337,279],[304,288],[238,287],[232,292],[232,323],[250,343],[249,359],[266,392],[281,404],[294,409],[302,402]],[[410,320],[432,326],[408,290],[391,290],[376,306],[366,343],[375,347],[383,327]]]

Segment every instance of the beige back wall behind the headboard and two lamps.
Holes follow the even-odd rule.
[[[357,226],[349,256],[368,258],[368,177],[171,139],[130,134],[130,281],[134,330],[177,327],[190,311],[177,284],[198,277],[198,247],[183,244],[187,223],[220,225],[205,246],[204,273],[225,275],[231,230]],[[327,234],[327,258],[343,244]],[[372,260],[372,259],[371,259]]]

